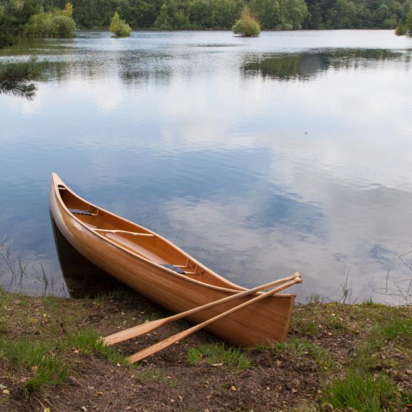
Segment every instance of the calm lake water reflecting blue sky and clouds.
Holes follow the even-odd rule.
[[[69,294],[55,171],[242,286],[299,271],[301,302],[346,288],[346,301],[411,303],[412,38],[79,32],[0,61],[31,54],[49,82],[32,101],[0,95],[0,284]]]

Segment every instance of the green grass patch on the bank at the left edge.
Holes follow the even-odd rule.
[[[29,339],[19,341],[0,340],[0,356],[12,367],[26,369],[31,377],[23,385],[28,396],[44,385],[59,385],[67,380],[68,368],[57,358],[56,347]]]

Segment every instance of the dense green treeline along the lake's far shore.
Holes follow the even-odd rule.
[[[33,1],[33,0],[32,0]],[[67,0],[40,0],[45,11]],[[263,30],[394,29],[406,22],[412,0],[72,0],[78,27],[108,27],[113,13],[134,28],[230,29],[244,5]]]

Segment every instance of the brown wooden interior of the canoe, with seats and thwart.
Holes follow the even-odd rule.
[[[206,284],[241,289],[210,273],[205,266],[192,260],[189,255],[156,233],[91,205],[67,190],[64,185],[58,185],[58,193],[62,203],[80,222],[102,238],[134,253],[137,257],[161,266],[172,265],[175,271]]]

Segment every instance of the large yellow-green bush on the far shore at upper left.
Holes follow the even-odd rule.
[[[72,18],[73,6],[67,3],[63,10],[41,12],[30,17],[25,35],[31,37],[73,37],[76,23]]]

